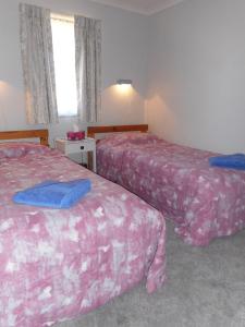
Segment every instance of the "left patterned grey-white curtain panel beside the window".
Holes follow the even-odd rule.
[[[27,122],[58,122],[50,11],[20,4]]]

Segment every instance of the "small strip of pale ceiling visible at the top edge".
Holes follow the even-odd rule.
[[[91,0],[91,1],[150,15],[163,9],[172,7],[179,2],[182,2],[183,0]]]

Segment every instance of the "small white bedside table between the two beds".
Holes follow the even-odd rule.
[[[96,141],[95,138],[86,137],[81,141],[68,141],[65,138],[56,140],[56,148],[62,152],[65,156],[78,153],[93,153],[93,171],[96,172]]]

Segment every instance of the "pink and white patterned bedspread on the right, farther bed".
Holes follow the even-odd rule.
[[[98,143],[97,170],[168,215],[185,242],[206,245],[245,227],[245,172],[209,167],[211,156],[126,133]]]

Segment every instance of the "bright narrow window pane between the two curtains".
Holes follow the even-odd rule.
[[[77,116],[74,19],[51,14],[51,28],[58,113]]]

